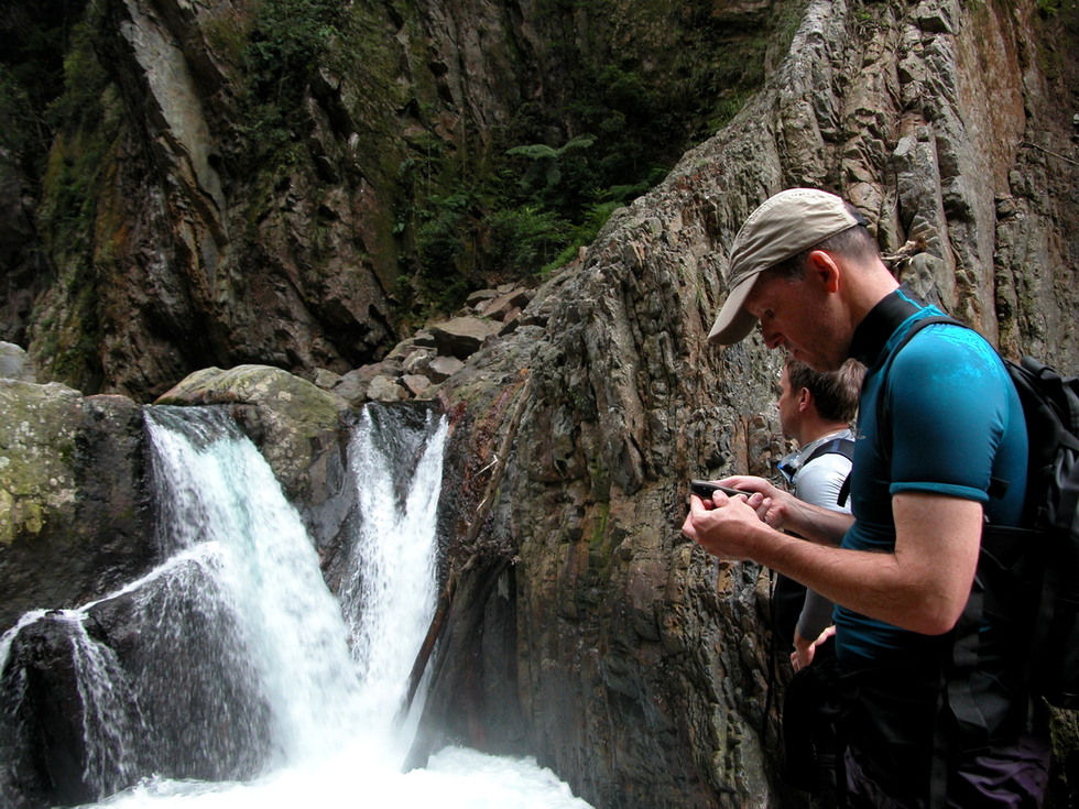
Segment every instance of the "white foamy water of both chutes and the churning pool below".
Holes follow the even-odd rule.
[[[248,761],[236,745],[258,741],[271,751],[270,763],[264,775],[247,781],[144,772],[135,786],[87,807],[588,809],[531,758],[447,748],[426,768],[401,772],[415,718],[395,718],[437,597],[442,419],[429,416],[426,437],[402,445],[382,435],[394,429],[392,419],[364,414],[349,449],[362,518],[338,601],[326,588],[299,515],[254,445],[212,408],[153,409],[161,542],[172,556],[122,592],[156,616],[155,631],[143,633],[153,636],[150,643],[197,649],[197,637],[193,643],[185,633],[220,633],[207,645],[224,658],[214,663],[228,680],[220,699],[229,715],[221,724],[243,725],[248,737],[216,739],[208,755],[220,750]],[[417,456],[405,464],[404,479],[402,458],[395,457],[402,447]],[[133,767],[153,761],[152,751],[139,750],[155,746],[145,723],[156,717],[175,724],[183,714],[155,703],[153,717],[144,719],[140,701],[149,703],[149,689],[86,634],[81,623],[90,606],[48,620],[70,623],[84,675],[79,693],[90,706],[84,779],[107,795],[113,785],[132,781]],[[0,638],[0,667],[20,628],[44,616],[28,614]],[[148,676],[154,700],[170,692],[159,682],[167,680],[167,670]],[[252,688],[257,700],[246,696]],[[260,756],[255,752],[250,759]]]

